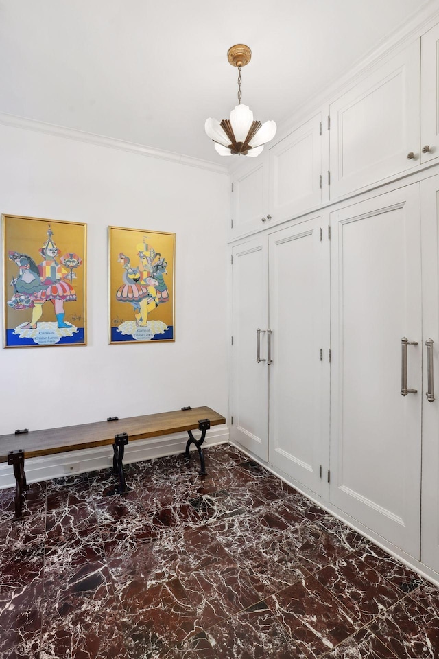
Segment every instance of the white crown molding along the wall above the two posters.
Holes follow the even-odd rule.
[[[200,158],[193,158],[191,156],[185,156],[183,154],[173,153],[171,151],[164,151],[161,149],[153,148],[151,146],[143,146],[143,144],[127,142],[123,139],[105,137],[104,135],[95,135],[92,132],[85,132],[84,130],[66,128],[65,126],[56,126],[56,124],[46,124],[45,122],[38,122],[35,119],[18,117],[16,115],[10,115],[4,112],[0,112],[0,124],[3,124],[3,126],[12,126],[12,128],[33,130],[34,132],[40,132],[44,133],[45,135],[52,135],[54,137],[73,139],[79,142],[94,144],[95,146],[104,146],[106,148],[115,149],[117,151],[136,153],[138,155],[147,156],[149,158],[158,158],[160,160],[166,160],[178,165],[198,167],[199,169],[215,172],[216,174],[225,174],[226,176],[228,175],[228,167],[226,167],[226,165],[211,163]]]

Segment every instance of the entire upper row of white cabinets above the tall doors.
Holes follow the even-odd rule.
[[[439,157],[439,25],[357,76],[311,119],[241,159],[230,240],[317,209]]]

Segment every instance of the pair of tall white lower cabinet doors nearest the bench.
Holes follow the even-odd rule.
[[[316,494],[329,422],[321,229],[320,216],[307,218],[233,248],[230,435]]]

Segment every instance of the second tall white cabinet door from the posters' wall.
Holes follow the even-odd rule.
[[[321,227],[316,217],[276,231],[269,247],[269,459],[318,494],[329,439],[329,240],[326,231],[320,240]]]

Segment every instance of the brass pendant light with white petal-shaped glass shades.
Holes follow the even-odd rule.
[[[233,67],[238,67],[238,104],[230,112],[230,119],[206,119],[204,130],[215,142],[215,149],[222,156],[259,156],[263,145],[276,135],[276,122],[255,122],[247,105],[241,105],[241,68],[252,57],[250,48],[238,43],[228,49],[227,58]]]

